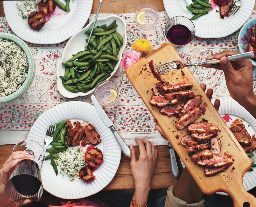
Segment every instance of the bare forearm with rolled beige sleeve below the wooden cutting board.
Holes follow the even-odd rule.
[[[178,183],[174,187],[173,194],[176,198],[188,203],[196,203],[202,199],[202,191],[187,168],[184,168]]]

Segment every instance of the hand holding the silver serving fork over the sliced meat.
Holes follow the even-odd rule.
[[[253,65],[250,60],[230,62],[226,56],[238,54],[237,51],[224,50],[206,57],[206,60],[218,59],[220,64],[207,65],[207,68],[222,70],[225,74],[227,89],[230,96],[242,106],[255,101],[253,92]],[[253,98],[253,100],[251,100]]]

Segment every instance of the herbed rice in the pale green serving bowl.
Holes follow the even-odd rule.
[[[0,97],[18,90],[27,77],[26,53],[14,42],[0,39]]]

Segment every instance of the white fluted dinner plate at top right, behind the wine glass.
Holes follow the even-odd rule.
[[[214,1],[210,0],[213,10],[209,11],[209,14],[192,21],[195,25],[195,36],[199,38],[221,38],[237,31],[250,17],[255,0],[241,0],[241,2],[242,6],[235,15],[221,19],[219,12],[217,12],[219,6],[216,6]],[[191,11],[187,10],[185,0],[163,0],[163,5],[169,18],[186,16],[190,19],[193,16]]]

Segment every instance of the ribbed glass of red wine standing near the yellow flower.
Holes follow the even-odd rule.
[[[167,22],[165,36],[175,48],[182,48],[194,38],[195,25],[185,16],[175,16]]]

